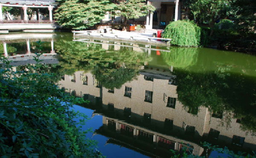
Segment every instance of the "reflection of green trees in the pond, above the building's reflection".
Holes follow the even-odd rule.
[[[65,46],[65,47],[63,47]],[[120,51],[102,49],[101,44],[61,40],[55,45],[61,56],[60,65],[64,73],[72,75],[76,71],[91,71],[102,86],[108,89],[120,88],[136,77],[140,66],[151,60],[146,53],[121,47]]]

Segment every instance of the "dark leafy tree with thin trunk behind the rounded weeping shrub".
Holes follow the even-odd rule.
[[[189,0],[186,5],[201,23],[209,23],[212,29],[211,36],[217,20],[236,14],[236,10],[233,8],[235,2],[236,0]]]

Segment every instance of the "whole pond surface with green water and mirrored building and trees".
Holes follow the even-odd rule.
[[[87,137],[109,158],[170,157],[184,147],[204,155],[203,141],[256,151],[255,56],[71,33],[11,35],[0,53],[14,66],[33,63],[36,41],[44,41],[42,62],[60,88],[90,101],[74,109],[90,118],[82,129],[91,128]]]

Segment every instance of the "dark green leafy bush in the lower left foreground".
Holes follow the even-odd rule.
[[[2,157],[101,157],[79,127],[86,116],[71,110],[74,103],[84,101],[65,94],[54,83],[60,74],[52,70],[58,67],[36,64],[14,72],[8,60],[1,61]],[[82,119],[77,123],[75,118]]]

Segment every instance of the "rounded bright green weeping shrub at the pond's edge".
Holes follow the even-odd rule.
[[[163,38],[171,38],[171,44],[177,46],[199,46],[201,31],[195,23],[178,20],[166,26]]]

